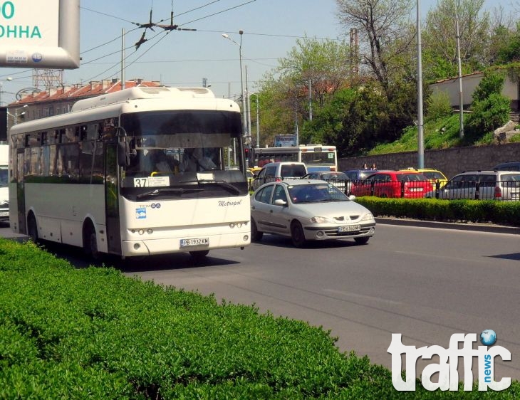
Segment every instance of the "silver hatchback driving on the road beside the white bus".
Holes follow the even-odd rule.
[[[274,181],[251,196],[251,239],[264,233],[306,241],[353,238],[367,243],[375,233],[372,213],[333,184],[315,179]]]

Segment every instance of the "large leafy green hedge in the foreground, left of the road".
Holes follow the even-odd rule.
[[[390,336],[389,336],[390,342]],[[306,322],[0,239],[1,399],[415,399]],[[478,391],[460,392],[481,399]],[[520,385],[487,398],[515,398]]]

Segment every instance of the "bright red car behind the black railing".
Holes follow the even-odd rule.
[[[352,194],[415,199],[424,197],[431,190],[433,190],[432,183],[420,172],[378,171],[354,185]]]

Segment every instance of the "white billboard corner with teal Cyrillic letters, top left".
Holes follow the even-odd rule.
[[[0,66],[80,64],[80,0],[0,0]]]

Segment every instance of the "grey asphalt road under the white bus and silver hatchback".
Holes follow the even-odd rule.
[[[76,248],[51,251],[78,268],[88,265]],[[198,264],[186,254],[105,264],[322,326],[338,337],[341,351],[386,367],[392,333],[402,333],[408,346],[446,348],[454,333],[492,329],[512,354],[511,362],[496,359],[495,379],[520,380],[518,234],[379,223],[365,246],[332,241],[296,249],[288,239],[264,235],[243,251],[211,251]],[[418,374],[424,365],[417,364]]]

